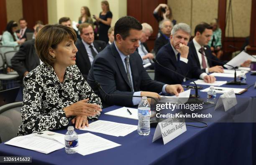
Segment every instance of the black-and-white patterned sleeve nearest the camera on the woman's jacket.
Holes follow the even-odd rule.
[[[68,119],[63,109],[54,113],[42,114],[43,88],[36,81],[36,75],[28,73],[24,77],[23,106],[21,108],[22,124],[19,130],[26,134],[44,130],[54,130],[68,125]]]

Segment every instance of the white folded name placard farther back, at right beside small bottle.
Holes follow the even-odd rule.
[[[220,98],[219,98],[214,110],[216,110],[218,107],[220,107],[222,105],[224,106],[225,111],[228,111],[230,108],[237,105],[237,100],[236,100],[236,95],[235,95],[234,90],[230,90],[230,91],[224,93],[223,95],[220,95]]]

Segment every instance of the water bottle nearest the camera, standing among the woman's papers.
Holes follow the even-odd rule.
[[[78,146],[78,135],[74,131],[73,126],[68,127],[68,131],[65,134],[65,151],[68,154],[76,153],[75,150],[72,150],[72,148]]]

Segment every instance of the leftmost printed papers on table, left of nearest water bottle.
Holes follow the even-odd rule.
[[[8,142],[5,142],[5,144],[34,150],[45,154],[64,148],[64,145],[57,142],[56,140],[41,138],[35,134],[36,133],[25,136],[18,136],[9,140]]]

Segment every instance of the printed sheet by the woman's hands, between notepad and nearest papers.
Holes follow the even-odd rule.
[[[110,122],[105,120],[97,120],[90,123],[89,127],[81,128],[95,133],[103,133],[112,136],[126,136],[137,130],[137,125],[122,124],[118,122]]]

